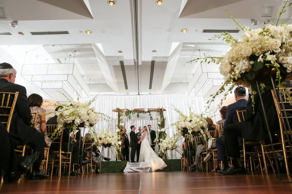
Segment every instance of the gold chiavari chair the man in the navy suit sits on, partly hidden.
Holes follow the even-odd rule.
[[[238,117],[238,121],[242,122],[245,121],[245,110],[237,110],[236,114]],[[256,151],[250,151],[247,152],[246,151],[246,146],[252,146],[253,149],[255,149]],[[243,161],[244,161],[244,167],[246,170],[248,170],[248,166],[247,166],[247,156],[249,156],[249,162],[250,162],[250,169],[252,171],[252,162],[254,163],[255,158],[258,158],[259,161],[259,166],[261,168],[261,172],[262,172],[262,162],[261,162],[261,155],[263,155],[262,152],[259,152],[259,147],[261,146],[261,141],[246,141],[244,138],[242,138],[242,147],[243,149],[240,151],[242,153],[243,156]],[[255,164],[254,164],[255,166]]]

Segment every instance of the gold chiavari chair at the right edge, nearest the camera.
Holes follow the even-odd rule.
[[[288,89],[292,89],[292,88],[288,88]],[[287,124],[289,125],[289,123],[287,123],[286,121],[288,120],[291,123],[291,120],[292,120],[292,108],[290,106],[290,104],[292,102],[289,101],[286,94],[281,94],[281,99],[279,99],[279,90],[278,89],[276,89],[276,94],[273,90],[271,90],[271,92],[272,92],[273,101],[274,101],[274,105],[276,107],[277,117],[278,117],[278,121],[279,121],[279,125],[280,125],[279,126],[280,127],[280,134],[276,135],[276,137],[279,139],[279,142],[273,143],[273,146],[274,146],[274,150],[276,153],[283,154],[283,156],[276,155],[276,157],[284,159],[287,176],[290,176],[288,158],[292,157],[292,155],[291,155],[292,153],[291,153],[290,146],[289,146],[289,141],[290,141],[290,145],[292,144],[292,135],[291,135],[292,133],[289,130],[289,127],[287,126]],[[277,102],[276,95],[278,96],[278,100],[280,100],[279,102]],[[285,108],[285,111],[284,111],[283,106]],[[286,114],[285,114],[285,112],[286,112]],[[284,125],[286,125],[286,130],[284,128]],[[291,124],[290,124],[290,128],[291,128]],[[271,143],[266,144],[265,141],[262,141],[263,156],[265,157],[265,155],[266,155],[270,163],[271,163],[270,158],[274,157],[271,147],[272,147]],[[266,169],[266,173],[267,173],[265,158],[264,158],[264,165],[265,165],[265,169]],[[271,165],[271,166],[273,167],[273,165]],[[275,172],[274,169],[273,169],[273,171]]]

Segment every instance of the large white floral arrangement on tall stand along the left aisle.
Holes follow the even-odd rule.
[[[64,96],[66,97],[66,95]],[[90,105],[96,100],[96,97],[97,96],[83,103],[69,100],[67,97],[67,104],[61,104],[59,102],[49,103],[49,105],[58,108],[58,110],[54,112],[54,114],[57,115],[58,126],[52,137],[65,128],[71,128],[71,131],[74,133],[78,126],[90,129],[97,124],[99,119],[111,119],[104,113],[96,112],[94,107],[90,108]]]

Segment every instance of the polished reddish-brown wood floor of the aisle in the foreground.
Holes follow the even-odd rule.
[[[287,179],[287,178],[286,178]],[[3,183],[0,193],[292,193],[292,183],[274,175],[146,172],[87,175],[78,179],[52,177]]]

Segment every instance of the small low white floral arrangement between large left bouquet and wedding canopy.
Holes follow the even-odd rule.
[[[120,141],[120,137],[117,135],[116,132],[109,132],[107,130],[102,130],[99,134],[96,129],[90,129],[89,133],[91,134],[92,139],[94,139],[93,145],[96,145],[98,147],[108,147],[111,149],[111,152],[116,156],[116,158],[119,155],[120,152],[120,145],[122,142]],[[113,148],[116,150],[114,153]]]

